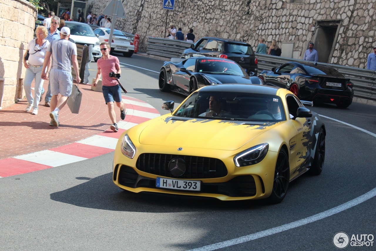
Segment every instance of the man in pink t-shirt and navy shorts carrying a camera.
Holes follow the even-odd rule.
[[[100,44],[100,51],[102,52],[102,57],[97,61],[98,71],[94,87],[102,77],[102,92],[105,98],[106,105],[108,107],[108,114],[110,116],[112,125],[110,129],[114,132],[118,131],[118,126],[116,123],[116,115],[114,110],[114,102],[116,106],[120,108],[120,118],[125,118],[124,104],[121,100],[121,89],[118,84],[117,78],[120,77],[121,69],[119,59],[115,56],[110,55],[110,46],[107,42]],[[109,73],[117,73],[117,77],[110,77]]]

